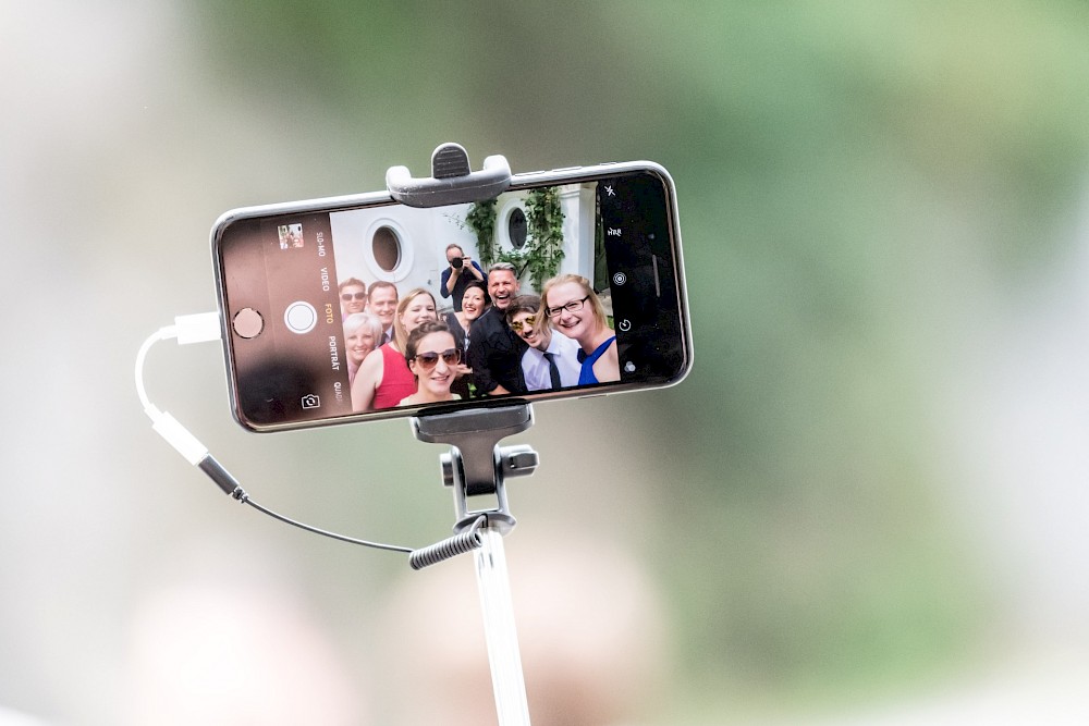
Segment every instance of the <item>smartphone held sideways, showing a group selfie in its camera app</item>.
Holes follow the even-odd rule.
[[[250,431],[641,391],[692,365],[676,195],[652,162],[516,174],[443,207],[235,209],[211,245]]]

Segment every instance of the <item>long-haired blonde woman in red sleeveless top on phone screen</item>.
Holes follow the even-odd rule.
[[[393,317],[393,340],[364,359],[352,382],[353,410],[392,408],[416,391],[416,380],[405,360],[405,344],[412,331],[435,320],[435,296],[427,290],[416,287],[401,298]]]

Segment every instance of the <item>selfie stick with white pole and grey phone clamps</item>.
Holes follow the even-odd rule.
[[[430,179],[413,179],[405,167],[393,167],[386,185],[394,199],[413,207],[464,204],[498,196],[511,185],[511,168],[501,156],[485,159],[484,169],[469,171],[468,155],[457,144],[443,144],[431,155]],[[514,606],[507,578],[503,537],[515,524],[506,501],[505,476],[528,476],[539,463],[529,446],[500,447],[499,441],[534,423],[529,404],[485,408],[412,419],[415,436],[426,443],[450,444],[439,457],[443,483],[454,489],[456,538],[473,538],[485,640],[491,665],[492,689],[500,726],[528,726],[526,685],[514,626]],[[469,497],[493,496],[494,506],[469,508]],[[479,500],[478,500],[479,501]],[[464,551],[464,550],[463,550]],[[435,561],[457,552],[438,552]],[[431,562],[414,558],[414,568]]]

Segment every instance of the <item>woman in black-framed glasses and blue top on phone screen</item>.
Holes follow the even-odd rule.
[[[542,310],[549,324],[583,348],[578,384],[620,380],[616,333],[590,281],[578,274],[562,274],[544,283]]]

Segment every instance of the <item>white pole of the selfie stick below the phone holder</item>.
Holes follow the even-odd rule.
[[[526,704],[526,684],[522,675],[518,633],[514,626],[503,536],[490,527],[482,527],[479,531],[484,545],[474,551],[474,559],[499,726],[529,726],[529,706]]]

